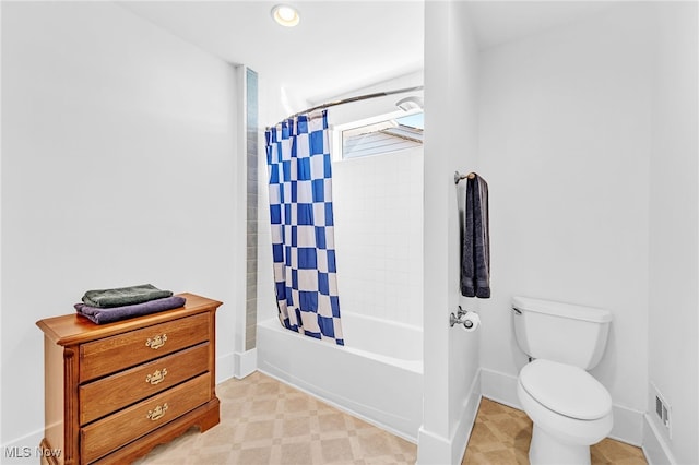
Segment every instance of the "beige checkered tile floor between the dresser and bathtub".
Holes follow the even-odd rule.
[[[175,464],[413,464],[415,444],[260,372],[216,386],[221,424],[192,428],[138,461]]]

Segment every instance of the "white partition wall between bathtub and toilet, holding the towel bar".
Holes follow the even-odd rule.
[[[454,171],[476,168],[478,57],[464,3],[425,4],[424,404],[418,463],[460,463],[477,408],[478,339],[449,326],[460,295]]]

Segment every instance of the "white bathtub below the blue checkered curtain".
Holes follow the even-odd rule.
[[[343,312],[345,346],[258,323],[258,369],[411,442],[423,420],[423,332]]]

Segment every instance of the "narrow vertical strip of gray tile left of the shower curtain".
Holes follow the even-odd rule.
[[[258,73],[246,69],[247,261],[245,349],[256,346],[258,323]]]

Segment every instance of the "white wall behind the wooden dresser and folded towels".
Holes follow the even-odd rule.
[[[236,298],[236,99],[230,65],[114,3],[2,3],[3,445],[43,434],[37,320],[90,288]]]

